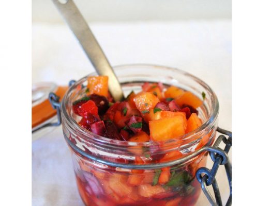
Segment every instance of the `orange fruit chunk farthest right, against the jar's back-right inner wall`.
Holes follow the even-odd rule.
[[[179,107],[182,107],[185,104],[190,105],[193,108],[198,108],[203,104],[203,101],[191,92],[185,92],[183,95],[177,97],[175,101]]]

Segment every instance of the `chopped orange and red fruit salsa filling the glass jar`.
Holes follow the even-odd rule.
[[[143,165],[177,160],[189,153],[159,151],[166,141],[176,140],[182,145],[184,135],[203,124],[197,110],[203,100],[174,85],[145,82],[141,92],[131,91],[123,101],[114,102],[108,92],[108,77],[93,76],[87,79],[84,96],[73,101],[72,112],[79,119],[77,123],[94,134],[133,143],[153,142],[157,147],[134,146],[137,150],[130,150],[133,159],[110,158]],[[210,134],[204,135],[194,151],[209,138]],[[81,156],[76,158],[79,193],[88,206],[194,205],[201,191],[195,173],[206,164],[206,153],[186,164],[160,169],[100,167]]]

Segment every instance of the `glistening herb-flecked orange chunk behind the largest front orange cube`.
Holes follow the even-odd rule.
[[[143,113],[143,111],[148,111],[151,108],[154,108],[156,104],[160,101],[154,94],[150,92],[142,92],[137,94],[133,101],[137,109]]]

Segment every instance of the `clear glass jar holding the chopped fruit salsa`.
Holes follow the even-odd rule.
[[[156,65],[114,67],[127,96],[137,93],[144,82],[175,85],[202,99],[198,108],[203,124],[177,140],[134,143],[111,140],[85,130],[77,124],[72,102],[81,98],[87,77],[74,83],[62,101],[63,133],[72,153],[80,196],[87,206],[115,205],[194,205],[201,192],[195,173],[206,165],[207,153],[181,161],[216,136],[219,111],[215,93],[206,83],[175,68]],[[109,82],[111,84],[111,82]],[[164,157],[164,158],[163,158]],[[161,159],[161,160],[160,160]],[[166,181],[168,179],[168,181]],[[162,183],[164,182],[164,183]]]

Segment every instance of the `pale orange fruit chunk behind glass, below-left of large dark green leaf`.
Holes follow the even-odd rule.
[[[154,195],[164,193],[165,190],[160,185],[152,186],[150,184],[142,184],[138,186],[138,192],[142,197],[152,197]]]

